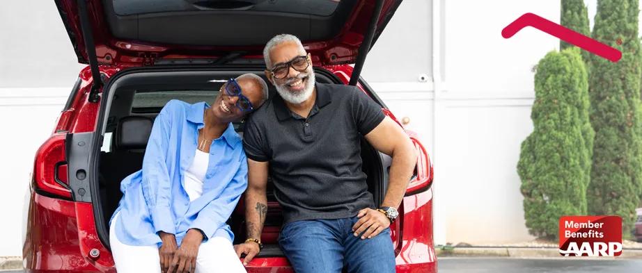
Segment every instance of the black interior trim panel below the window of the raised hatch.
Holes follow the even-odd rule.
[[[102,3],[109,29],[118,39],[196,46],[263,47],[270,38],[281,33],[297,35],[302,41],[331,40],[343,30],[357,1],[340,1],[329,16],[235,9],[118,15],[111,0]]]

